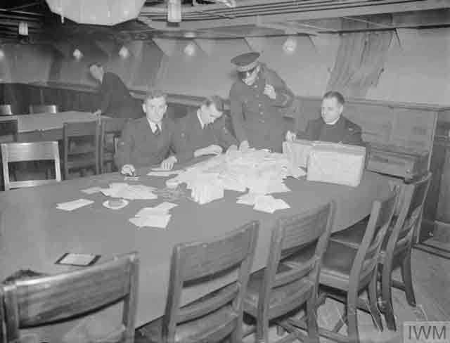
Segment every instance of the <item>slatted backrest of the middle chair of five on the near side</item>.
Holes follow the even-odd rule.
[[[332,201],[308,212],[278,219],[278,224],[272,231],[264,280],[262,287],[259,288],[259,314],[263,315],[269,310],[271,291],[276,287],[295,283],[304,278],[311,281],[311,285],[314,285],[313,292],[316,292],[319,286],[321,261],[330,238],[334,213],[335,203]],[[288,268],[288,270],[278,268],[283,258],[311,245],[315,246],[314,255],[304,262],[302,268]],[[293,301],[293,297],[287,297],[285,304],[280,303],[279,306],[283,306],[283,311],[287,313],[300,304]]]

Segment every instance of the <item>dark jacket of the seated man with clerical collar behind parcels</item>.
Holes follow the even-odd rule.
[[[361,138],[361,127],[342,115],[333,125],[323,122],[322,118],[309,120],[306,132],[298,132],[297,138],[310,141],[365,145]]]

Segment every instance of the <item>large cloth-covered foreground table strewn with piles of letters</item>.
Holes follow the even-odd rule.
[[[147,171],[138,170],[141,180],[137,183],[164,188],[167,178],[146,176]],[[227,190],[224,198],[205,205],[198,205],[189,198],[172,200],[179,206],[171,210],[172,219],[166,229],[138,229],[128,219],[142,207],[158,205],[164,199],[132,200],[127,207],[112,210],[102,205],[108,199],[105,195],[86,195],[80,191],[123,181],[123,176],[113,173],[1,193],[0,280],[25,268],[44,273],[75,268],[54,264],[65,252],[101,254],[104,260],[136,251],[141,261],[136,321],[140,326],[164,313],[169,261],[176,243],[208,240],[257,219],[261,223],[253,264],[253,270],[257,270],[266,264],[271,229],[280,216],[335,200],[337,212],[333,231],[339,231],[363,219],[369,214],[373,200],[389,191],[384,176],[368,171],[357,188],[288,178],[285,184],[292,191],[274,196],[288,202],[290,209],[274,214],[257,212],[248,205],[236,204],[240,193]],[[59,202],[79,198],[95,202],[72,212],[56,208]],[[226,280],[207,284],[200,290],[188,290],[183,302],[191,302],[224,283]]]

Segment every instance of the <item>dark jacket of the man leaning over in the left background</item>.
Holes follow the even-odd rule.
[[[99,109],[105,115],[131,119],[143,116],[140,102],[130,95],[127,86],[113,72],[105,72],[103,75],[98,95],[100,96]]]

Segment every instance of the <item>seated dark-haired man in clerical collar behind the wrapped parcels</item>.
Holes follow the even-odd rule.
[[[365,145],[361,138],[361,127],[342,116],[345,99],[337,91],[328,91],[322,98],[321,118],[309,120],[305,132],[286,133],[286,141],[295,138],[310,141],[326,141],[352,145]]]

